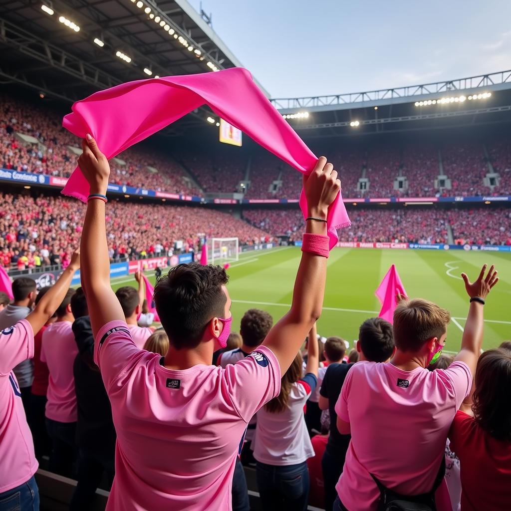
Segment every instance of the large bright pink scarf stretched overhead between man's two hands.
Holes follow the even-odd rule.
[[[204,104],[299,172],[309,174],[316,165],[317,157],[240,67],[123,83],[75,103],[62,125],[81,138],[90,133],[112,158]],[[85,202],[89,185],[79,168],[62,193]],[[305,218],[303,191],[300,207]],[[328,214],[330,248],[338,240],[336,229],[350,225],[339,193]]]

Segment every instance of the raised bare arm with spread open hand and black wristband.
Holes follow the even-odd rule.
[[[474,375],[477,359],[481,351],[482,336],[483,336],[483,302],[490,290],[499,282],[497,271],[492,265],[490,270],[484,277],[487,265],[484,265],[473,283],[469,281],[469,277],[465,273],[461,273],[465,283],[467,294],[472,300],[469,306],[469,314],[467,322],[463,329],[463,336],[461,338],[461,350],[456,355],[454,360],[461,360],[466,362],[470,367],[472,375]]]

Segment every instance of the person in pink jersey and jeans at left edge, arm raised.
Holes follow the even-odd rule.
[[[34,333],[60,305],[79,267],[80,258],[75,253],[71,264],[34,311],[0,334],[0,507],[5,505],[2,509],[39,509],[34,442],[12,369],[34,356]]]

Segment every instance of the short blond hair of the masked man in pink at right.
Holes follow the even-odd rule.
[[[417,353],[428,339],[442,337],[450,320],[449,311],[431,301],[403,300],[394,311],[394,343],[398,350]]]

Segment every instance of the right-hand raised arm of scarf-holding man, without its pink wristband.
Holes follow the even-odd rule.
[[[314,171],[304,177],[308,217],[326,219],[328,208],[337,197],[341,183],[332,164],[319,158]],[[327,236],[327,224],[317,220],[306,222],[306,233]],[[327,259],[303,252],[296,275],[290,311],[270,330],[263,345],[275,354],[284,374],[291,365],[305,336],[321,314]]]

